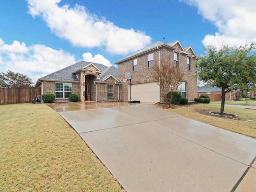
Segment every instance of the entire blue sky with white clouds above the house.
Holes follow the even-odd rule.
[[[254,0],[0,0],[0,72],[34,82],[81,60],[114,62],[153,42],[256,42]]]

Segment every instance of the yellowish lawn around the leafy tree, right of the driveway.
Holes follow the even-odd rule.
[[[225,106],[224,112],[238,115],[239,120],[206,115],[210,111],[220,112],[219,104],[195,104],[168,110],[206,124],[256,138],[256,110],[254,109]],[[247,119],[253,122],[245,122],[244,120]]]

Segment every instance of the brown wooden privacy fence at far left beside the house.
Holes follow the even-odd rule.
[[[0,105],[31,103],[37,95],[41,96],[40,87],[0,88]]]

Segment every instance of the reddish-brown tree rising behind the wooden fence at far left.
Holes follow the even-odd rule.
[[[34,82],[28,76],[8,70],[0,73],[0,87],[32,87]]]

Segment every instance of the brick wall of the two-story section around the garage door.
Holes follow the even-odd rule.
[[[197,98],[197,78],[196,78],[196,66],[194,60],[194,54],[191,49],[187,51],[188,55],[180,54],[180,50],[182,48],[177,43],[175,46],[175,50],[170,50],[168,48],[160,48],[160,56],[161,60],[167,62],[170,60],[171,64],[174,64],[174,52],[178,53],[178,65],[184,70],[185,75],[183,82],[186,82],[186,93],[189,101],[194,101],[194,98]],[[159,63],[159,51],[157,49],[152,50],[150,52],[143,53],[142,55],[136,56],[134,58],[129,58],[118,64],[118,76],[119,79],[122,80],[124,78],[124,74],[127,72],[131,72],[132,74],[132,84],[142,83],[142,82],[152,82],[157,81],[153,78],[153,68],[148,68],[148,54],[154,53],[154,63]],[[187,58],[190,57],[190,70],[187,70]],[[132,72],[132,62],[137,58],[137,71]],[[128,85],[129,80],[127,82],[123,82],[120,86],[120,99],[128,100]],[[165,95],[163,90],[160,90],[160,100],[161,102],[165,102]]]

